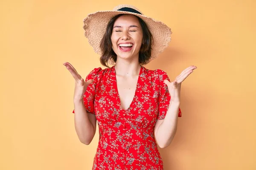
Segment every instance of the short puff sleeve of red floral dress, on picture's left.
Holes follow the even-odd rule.
[[[84,107],[87,113],[94,113],[94,99],[96,94],[96,85],[98,83],[98,75],[102,68],[94,68],[86,77],[85,81],[87,82],[89,79],[93,79],[93,82],[87,86],[86,91],[84,92]],[[73,110],[72,113],[75,113]]]

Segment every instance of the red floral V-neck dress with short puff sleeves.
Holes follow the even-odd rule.
[[[157,119],[164,119],[171,99],[163,82],[169,80],[166,72],[142,66],[127,110],[120,105],[115,66],[94,68],[85,80],[89,79],[94,81],[84,93],[84,105],[99,126],[92,170],[163,170],[154,126]],[[180,108],[177,116],[181,117]]]

